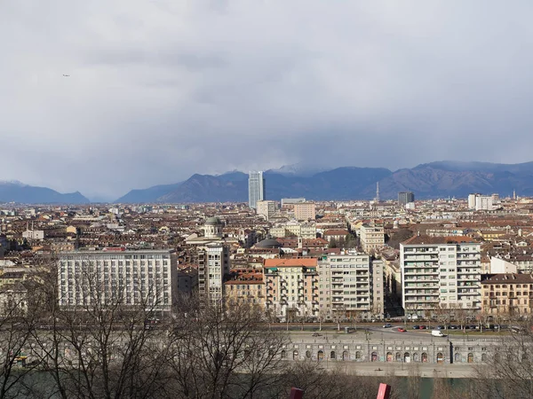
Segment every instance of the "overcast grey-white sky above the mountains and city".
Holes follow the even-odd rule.
[[[533,160],[533,2],[0,2],[0,180]],[[69,76],[63,76],[68,74]]]

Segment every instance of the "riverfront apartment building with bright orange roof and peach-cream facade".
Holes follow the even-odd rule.
[[[317,266],[316,258],[266,259],[267,312],[282,321],[316,317]]]

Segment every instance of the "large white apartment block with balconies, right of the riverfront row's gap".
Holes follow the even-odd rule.
[[[481,307],[481,245],[462,238],[413,237],[400,245],[406,314]]]

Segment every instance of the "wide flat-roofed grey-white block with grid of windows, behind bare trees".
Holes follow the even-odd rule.
[[[80,250],[60,253],[58,262],[60,306],[83,309],[95,301],[120,301],[169,311],[175,301],[177,260],[172,250]]]

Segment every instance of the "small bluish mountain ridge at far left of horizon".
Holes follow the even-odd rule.
[[[17,181],[0,182],[0,203],[21,204],[88,204],[80,192],[61,194],[46,187],[35,187]]]

